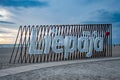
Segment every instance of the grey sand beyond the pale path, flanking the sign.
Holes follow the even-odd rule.
[[[12,48],[0,48],[0,69],[29,65],[27,64],[9,64],[10,56],[12,53]],[[120,57],[120,46],[113,46],[113,57]]]

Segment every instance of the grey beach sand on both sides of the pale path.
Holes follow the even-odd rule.
[[[120,57],[120,46],[113,46],[112,51],[113,57]],[[11,52],[12,48],[0,48],[0,70],[31,65],[29,63],[9,64]],[[0,80],[119,80],[119,66],[120,60],[69,64],[3,76]]]

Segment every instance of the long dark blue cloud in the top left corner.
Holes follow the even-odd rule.
[[[44,7],[48,6],[47,2],[38,0],[0,0],[0,5],[5,7]]]

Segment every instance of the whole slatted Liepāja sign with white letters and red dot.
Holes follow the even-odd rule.
[[[10,63],[112,56],[112,25],[20,26]]]

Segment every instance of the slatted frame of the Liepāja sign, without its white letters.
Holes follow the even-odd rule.
[[[79,25],[37,25],[37,26],[20,26],[17,37],[15,40],[14,48],[10,57],[10,63],[39,63],[39,62],[50,62],[50,61],[63,61],[63,60],[75,60],[75,59],[86,59],[86,53],[80,53],[78,50],[74,53],[69,53],[68,59],[64,59],[63,53],[53,53],[50,51],[49,54],[28,54],[31,32],[33,28],[37,29],[36,43],[38,45],[39,41],[45,34],[48,35],[50,28],[57,28],[60,33],[50,34],[51,38],[60,34],[63,37],[66,35],[72,35],[81,37],[82,31],[95,31],[99,32],[99,36],[102,36],[102,32],[110,32],[110,36],[104,37],[104,50],[102,52],[96,52],[93,50],[93,55],[90,58],[98,57],[111,57],[112,56],[112,24],[79,24]],[[70,31],[70,27],[72,30]],[[36,47],[38,48],[38,46]]]

